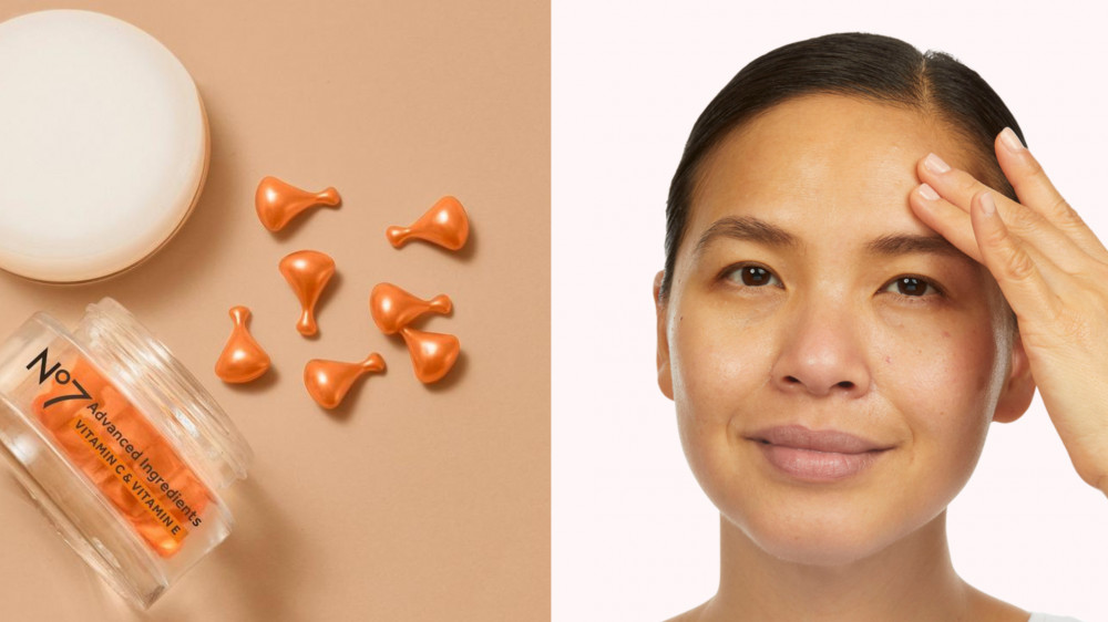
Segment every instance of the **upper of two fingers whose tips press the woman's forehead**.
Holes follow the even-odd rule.
[[[952,168],[935,154],[927,154],[916,166],[920,178],[944,199],[970,214],[974,196],[992,190],[994,203],[1008,230],[1020,240],[1036,247],[1060,268],[1070,273],[1088,268],[1089,253],[1042,214],[1024,207],[960,168]]]

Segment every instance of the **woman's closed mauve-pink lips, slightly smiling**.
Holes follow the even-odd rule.
[[[802,425],[751,433],[766,459],[781,473],[807,481],[837,481],[862,473],[892,447],[838,429]]]

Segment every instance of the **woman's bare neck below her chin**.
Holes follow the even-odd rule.
[[[870,557],[841,566],[783,561],[720,516],[719,591],[704,622],[963,620],[972,588],[954,572],[946,510]]]

